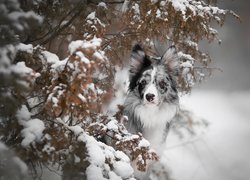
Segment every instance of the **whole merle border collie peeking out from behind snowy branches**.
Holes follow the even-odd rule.
[[[135,45],[130,59],[129,92],[124,102],[130,133],[142,133],[160,155],[170,121],[179,109],[176,77],[179,61],[174,46],[157,59]]]

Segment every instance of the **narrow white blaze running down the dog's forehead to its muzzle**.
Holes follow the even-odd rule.
[[[156,76],[156,68],[154,67],[152,72],[151,72],[151,80],[149,82],[149,85],[148,85],[145,93],[144,93],[144,102],[147,102],[146,95],[148,93],[150,93],[150,94],[155,95],[154,100],[152,101],[152,103],[155,103],[155,104],[159,103],[158,91],[157,91],[157,88],[156,88],[156,86],[154,84],[155,76]]]

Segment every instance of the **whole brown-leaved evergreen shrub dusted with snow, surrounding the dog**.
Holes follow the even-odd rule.
[[[6,0],[0,10],[0,156],[9,157],[4,144],[17,156],[0,158],[0,165],[20,165],[16,179],[27,172],[37,179],[43,168],[63,179],[90,180],[135,179],[132,163],[146,171],[159,157],[141,134],[123,126],[123,72],[132,45],[141,43],[154,58],[176,45],[178,88],[186,93],[210,73],[199,42],[218,40],[211,24],[237,17],[194,0]],[[177,124],[193,133],[190,120],[199,125],[181,111]]]

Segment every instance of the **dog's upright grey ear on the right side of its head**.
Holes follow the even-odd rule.
[[[161,58],[161,63],[168,71],[177,76],[179,72],[179,57],[175,46],[170,46]]]

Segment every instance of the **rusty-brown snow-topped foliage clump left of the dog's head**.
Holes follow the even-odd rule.
[[[70,111],[71,106],[81,106],[82,112],[88,111],[86,106],[89,103],[96,104],[98,98],[101,98],[106,90],[97,86],[92,82],[92,79],[99,78],[100,66],[106,63],[106,56],[100,50],[102,40],[93,37],[90,40],[77,40],[69,44],[70,56],[64,60],[58,60],[54,54],[43,52],[47,62],[52,64],[49,66],[50,71],[54,74],[53,85],[47,98],[47,102],[51,103],[53,113],[60,113],[62,109],[60,104],[66,96],[66,102],[70,106],[67,110]],[[67,76],[65,76],[67,72]],[[95,75],[96,74],[96,75]],[[95,77],[97,76],[97,77]],[[63,77],[64,83],[58,82],[58,77]],[[66,83],[67,82],[67,83]],[[67,87],[74,86],[76,93],[71,95],[71,89]]]

